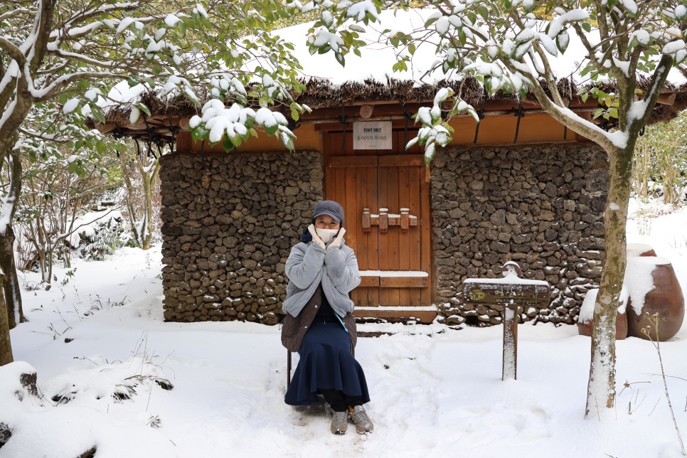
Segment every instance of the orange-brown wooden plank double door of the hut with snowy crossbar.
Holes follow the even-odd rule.
[[[370,316],[410,316],[405,307],[432,304],[427,169],[422,154],[370,152],[376,151],[326,156],[325,198],[344,206],[346,243],[356,251],[363,276],[351,294],[356,307],[397,309]],[[366,208],[368,218],[363,217]],[[407,209],[405,224],[401,208]]]

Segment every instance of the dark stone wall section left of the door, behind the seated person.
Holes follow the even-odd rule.
[[[284,262],[322,198],[320,154],[174,154],[160,176],[164,319],[276,324]]]

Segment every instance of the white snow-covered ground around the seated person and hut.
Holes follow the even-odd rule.
[[[629,242],[669,258],[687,290],[687,209],[654,203],[638,217],[632,206]],[[550,324],[519,326],[518,380],[506,382],[501,326],[396,325],[359,339],[376,429],[332,435],[328,409],[284,404],[277,326],[162,320],[160,260],[159,247],[118,250],[74,262],[74,275],[56,270],[49,291],[23,292],[30,321],[11,331],[17,363],[0,368],[0,420],[14,430],[0,457],[74,458],[93,446],[97,458],[682,456],[654,346],[618,342],[615,418],[585,420],[590,339]],[[686,354],[687,325],[661,343],[683,435]],[[42,405],[19,402],[8,381],[26,364]]]

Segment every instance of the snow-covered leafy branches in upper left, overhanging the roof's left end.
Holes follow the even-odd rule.
[[[15,9],[17,4],[22,7]],[[98,0],[85,9],[59,1],[54,11],[43,6],[31,1],[0,5],[0,144],[11,141],[32,104],[48,100],[58,102],[65,116],[80,113],[81,107],[104,123],[107,111],[116,109],[128,110],[129,122],[139,122],[150,115],[147,107],[110,95],[121,80],[163,100],[186,98],[198,105],[201,95],[209,95],[228,106],[250,101],[270,107],[279,100],[291,102],[289,92],[300,87],[292,45],[270,33],[290,11],[275,2],[260,11],[248,4],[208,10],[194,1],[181,2],[176,11],[139,1]],[[250,40],[244,39],[247,33]],[[298,116],[302,108],[292,104],[291,110]],[[290,131],[278,127],[282,124],[267,124],[272,134],[291,142]],[[234,132],[240,137],[248,131],[238,127]]]

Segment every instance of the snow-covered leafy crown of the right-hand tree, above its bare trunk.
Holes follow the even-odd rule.
[[[618,135],[609,134],[596,124],[587,123],[573,112],[564,110],[565,100],[575,94],[561,94],[558,90],[549,92],[550,88],[557,88],[561,80],[568,79],[587,90],[598,82],[618,78],[630,80],[632,85],[636,84],[636,78],[666,78],[667,70],[673,66],[679,66],[687,75],[687,27],[683,22],[687,17],[687,4],[684,2],[574,0],[551,4],[534,0],[454,0],[449,3],[433,0],[431,3],[435,11],[427,14],[423,27],[398,33],[395,23],[385,23],[386,16],[381,12],[403,9],[408,14],[415,14],[408,2],[363,0],[327,7],[321,1],[314,1],[316,6],[329,12],[321,13],[326,21],[318,21],[311,28],[310,51],[334,50],[343,65],[346,53],[355,53],[366,44],[361,39],[361,33],[366,30],[364,26],[371,28],[371,23],[379,22],[376,30],[382,33],[378,42],[408,50],[408,53],[398,52],[394,71],[408,69],[417,43],[431,43],[435,46],[437,62],[426,75],[435,69],[441,70],[447,78],[472,75],[491,95],[501,91],[524,97],[526,92],[532,91],[536,97],[548,100],[543,105],[548,105],[548,111],[561,122],[573,129],[582,129],[585,134],[590,134],[587,131],[591,129],[590,135],[595,141],[606,144],[618,144]],[[360,14],[361,11],[365,14]],[[326,40],[321,38],[323,36]],[[669,56],[671,61],[661,60],[663,56]],[[666,72],[655,73],[659,65],[665,65]],[[671,78],[675,85],[687,82],[685,77],[674,72]],[[635,87],[614,94],[618,99],[618,109],[612,111],[614,129],[627,136],[628,129],[634,132],[640,123],[646,122],[647,112],[641,116],[636,113],[639,105],[634,107],[632,119],[627,113],[638,98],[655,100],[655,91],[660,92],[663,83],[651,87],[654,92],[646,91],[639,96],[634,92]],[[647,110],[651,107],[653,104],[646,105]],[[436,122],[429,115],[431,110],[417,116],[429,129],[427,132],[434,132],[432,128]],[[447,112],[444,111],[443,116],[446,117]]]

